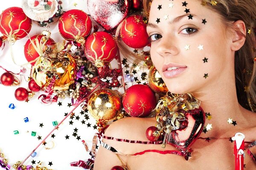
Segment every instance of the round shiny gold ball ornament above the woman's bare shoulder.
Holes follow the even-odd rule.
[[[96,121],[111,121],[116,119],[122,107],[120,96],[108,88],[99,89],[93,93],[87,108]]]

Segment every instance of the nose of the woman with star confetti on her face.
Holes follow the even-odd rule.
[[[170,40],[169,38],[161,38],[157,45],[157,53],[161,57],[177,55],[179,53],[179,49],[177,48],[177,44],[175,44],[175,42],[175,40]]]

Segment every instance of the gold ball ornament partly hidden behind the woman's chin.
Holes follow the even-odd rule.
[[[154,66],[148,72],[148,85],[157,94],[166,94],[168,91],[166,84]]]

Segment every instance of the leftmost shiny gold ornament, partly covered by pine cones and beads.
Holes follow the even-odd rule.
[[[38,58],[33,67],[33,79],[41,87],[47,87],[55,77],[53,90],[64,91],[75,82],[76,61],[70,54],[61,60]]]

